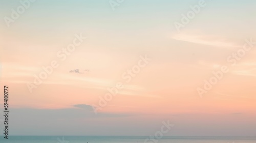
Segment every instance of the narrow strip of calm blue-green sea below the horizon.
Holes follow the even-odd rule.
[[[148,136],[1,136],[2,143],[256,143],[256,137],[170,137],[145,140]]]

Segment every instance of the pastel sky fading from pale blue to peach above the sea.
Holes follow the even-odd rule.
[[[145,71],[142,76],[138,76],[137,83],[143,81],[143,76],[145,81],[153,77],[152,81],[156,83],[152,84],[155,85],[145,84],[145,87],[149,88],[149,91],[150,89],[164,90],[166,94],[180,89],[186,83],[188,85],[184,87],[188,87],[188,91],[190,91],[190,86],[193,89],[195,86],[196,89],[197,84],[201,84],[203,79],[211,74],[212,66],[226,64],[226,57],[237,47],[243,45],[244,39],[256,38],[256,1],[253,0],[206,0],[207,5],[201,8],[200,13],[178,32],[174,22],[180,22],[181,14],[188,12],[189,6],[197,5],[198,2],[197,0],[126,0],[113,11],[108,0],[37,0],[8,28],[4,17],[10,17],[11,9],[16,9],[20,3],[15,0],[1,0],[0,56],[1,64],[8,67],[3,81],[10,81],[10,87],[12,85],[19,87],[11,88],[11,97],[13,96],[10,98],[11,134],[151,135],[159,130],[162,121],[170,120],[175,127],[166,135],[255,135],[256,115],[253,112],[255,106],[251,104],[247,106],[247,101],[240,102],[240,99],[217,99],[219,97],[211,95],[213,100],[209,101],[206,98],[200,101],[194,94],[193,96],[183,94],[186,89],[182,88],[182,93],[177,95],[178,98],[183,99],[180,101],[184,103],[181,102],[181,105],[174,106],[164,103],[163,106],[166,105],[166,109],[159,108],[169,109],[170,112],[152,113],[157,109],[149,106],[152,112],[145,113],[141,109],[147,108],[145,107],[147,100],[142,100],[140,108],[134,108],[130,112],[105,112],[95,115],[90,109],[73,108],[77,104],[88,104],[91,101],[84,103],[71,101],[67,105],[66,103],[62,105],[63,99],[69,101],[67,95],[61,98],[62,95],[54,97],[54,94],[51,99],[47,94],[57,89],[43,86],[42,88],[51,90],[29,94],[26,85],[15,83],[17,79],[14,76],[22,75],[18,77],[22,79],[26,74],[36,74],[39,71],[37,68],[47,65],[51,59],[54,59],[56,52],[66,46],[74,34],[83,33],[88,37],[86,43],[57,69],[57,74],[61,75],[64,71],[78,67],[90,68],[96,72],[113,73],[103,77],[112,78],[111,82],[113,82],[119,78],[117,74],[131,66],[131,61],[136,61],[141,54],[146,53],[154,60],[148,73]],[[252,52],[239,66],[244,69],[248,63],[256,65],[255,54],[255,51]],[[88,63],[88,60],[92,62]],[[29,71],[20,73],[18,65],[24,66],[24,71],[25,69]],[[176,65],[179,66],[175,68]],[[34,68],[35,70],[32,70]],[[184,70],[191,71],[191,73],[195,71],[196,76]],[[236,68],[236,70],[239,69]],[[256,74],[253,73],[253,75]],[[160,79],[161,76],[164,78]],[[179,79],[179,77],[182,78]],[[185,78],[190,80],[187,82]],[[245,78],[246,80],[236,78],[241,83],[244,82],[244,86],[253,83],[250,81],[252,78]],[[222,85],[232,83],[233,77],[227,77],[227,79],[230,82]],[[15,84],[12,84],[12,81]],[[161,81],[174,86],[161,84]],[[175,85],[174,81],[179,84]],[[239,85],[238,82],[237,84]],[[245,86],[241,90],[248,87],[250,86]],[[64,92],[69,87],[61,88]],[[75,91],[76,88],[70,89]],[[88,99],[91,99],[90,96],[91,94],[84,94],[84,97]],[[253,98],[252,101],[255,100],[252,94],[248,96]],[[95,93],[92,97],[96,99],[98,94]],[[191,102],[190,99],[192,99]],[[2,109],[3,102],[0,101]],[[199,105],[198,102],[200,102]],[[232,106],[225,107],[223,113],[220,109],[222,106],[218,104]],[[48,105],[61,105],[65,108],[42,108]],[[232,110],[232,107],[236,108],[236,112]],[[244,108],[237,109],[238,107]],[[178,109],[184,110],[171,112]],[[0,124],[1,129],[2,127],[3,124]]]

